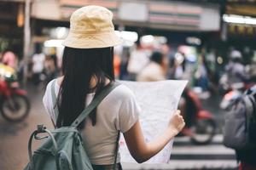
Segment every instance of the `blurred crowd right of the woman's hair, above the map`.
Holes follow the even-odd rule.
[[[115,54],[115,75],[122,80],[161,81],[166,79],[189,80],[189,88],[202,94],[202,98],[224,92],[234,84],[255,82],[256,53],[245,65],[239,50],[230,48],[223,63],[214,50],[202,48],[189,54],[186,47],[173,50],[166,44],[158,48],[134,48]]]

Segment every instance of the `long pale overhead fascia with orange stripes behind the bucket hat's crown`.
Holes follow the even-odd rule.
[[[69,20],[77,8],[100,5],[113,12],[114,23],[176,31],[218,31],[219,5],[177,1],[34,0],[32,16],[43,20]],[[45,13],[45,11],[48,11]]]

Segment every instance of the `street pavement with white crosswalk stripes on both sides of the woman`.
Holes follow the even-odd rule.
[[[25,122],[10,123],[0,118],[0,169],[20,170],[28,161],[27,141],[29,135],[38,124],[45,124],[51,128],[49,117],[45,114],[42,105],[44,89],[28,88],[32,110]],[[215,99],[215,100],[214,100]],[[195,145],[188,137],[175,138],[169,164],[147,165],[123,163],[124,169],[234,169],[236,156],[234,150],[224,147],[222,144],[221,125],[224,112],[216,109],[218,98],[211,98],[211,106],[204,106],[214,114],[218,121],[218,134],[211,144]],[[37,145],[38,143],[33,143]]]

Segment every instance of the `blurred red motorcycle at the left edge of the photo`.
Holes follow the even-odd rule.
[[[6,65],[0,65],[0,111],[7,121],[20,122],[28,116],[30,102],[12,72]]]

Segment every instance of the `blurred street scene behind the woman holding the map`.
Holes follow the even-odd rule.
[[[115,77],[189,80],[179,108],[187,125],[165,165],[125,169],[236,169],[222,128],[230,103],[256,81],[254,0],[0,0],[0,169],[25,167],[37,124],[52,127],[42,105],[61,75],[69,17],[85,5],[113,12]],[[37,145],[37,144],[35,144]]]

